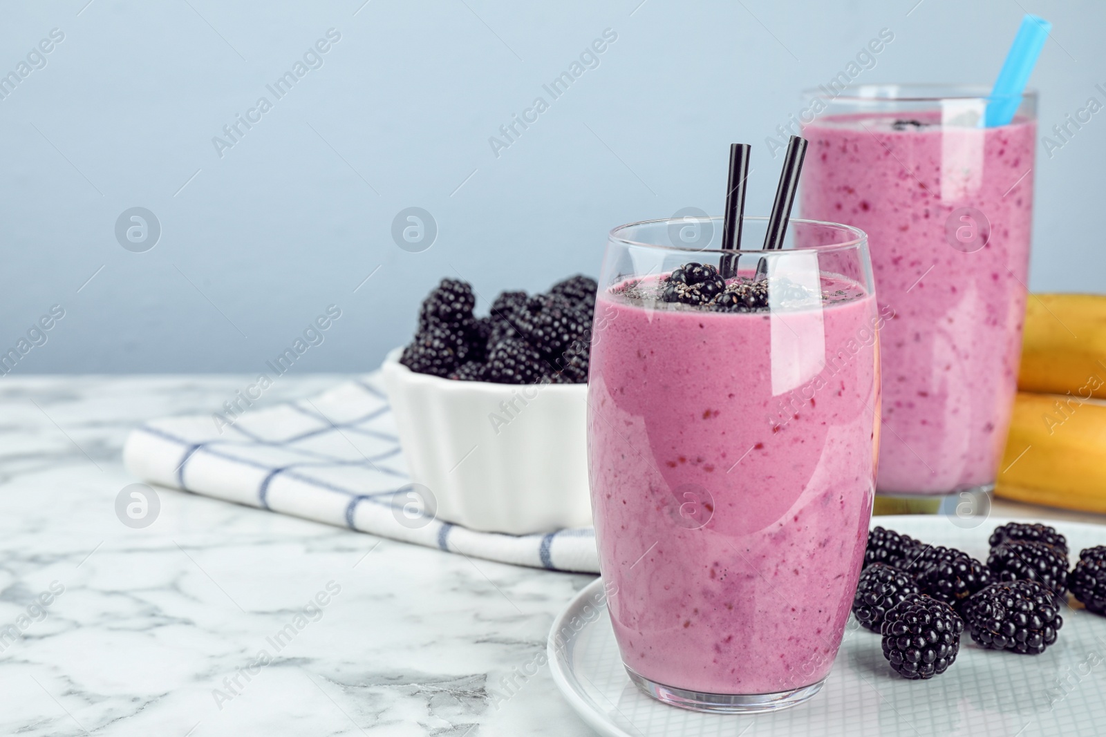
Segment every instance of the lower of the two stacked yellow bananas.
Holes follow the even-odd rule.
[[[1065,313],[1061,319],[1065,316],[1074,317]],[[1079,335],[1088,325],[1072,319],[1070,327]],[[1106,369],[1099,373],[1106,376]],[[994,494],[1106,513],[1106,402],[1076,393],[1019,392]]]

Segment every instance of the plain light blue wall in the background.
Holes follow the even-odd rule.
[[[765,213],[765,136],[881,28],[895,40],[857,82],[990,84],[1035,12],[1054,24],[1031,83],[1042,133],[1106,102],[1093,0],[639,2],[4,3],[0,73],[51,29],[65,40],[0,101],[0,347],[58,303],[17,372],[254,372],[336,304],[294,370],[369,369],[442,275],[486,298],[543,289],[594,274],[617,223],[720,212],[731,141],[754,144],[748,212]],[[212,136],[330,28],[324,65],[220,158]],[[493,156],[607,28],[599,66]],[[1051,159],[1039,147],[1033,289],[1103,288],[1104,140],[1106,112]],[[114,236],[135,206],[161,223],[146,253]],[[390,235],[411,206],[438,223],[421,253]]]

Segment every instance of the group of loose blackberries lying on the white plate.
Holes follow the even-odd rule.
[[[990,544],[983,565],[883,527],[868,534],[853,614],[883,634],[897,673],[945,672],[966,628],[982,647],[1040,655],[1064,624],[1068,589],[1088,611],[1106,615],[1106,546],[1083,550],[1068,572],[1067,540],[1053,527],[1001,525]]]

